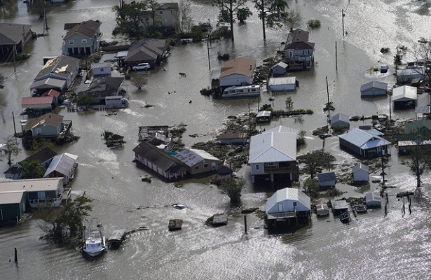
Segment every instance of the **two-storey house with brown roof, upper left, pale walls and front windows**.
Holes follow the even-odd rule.
[[[63,55],[91,55],[99,51],[100,45],[100,25],[99,20],[87,20],[80,23],[66,23],[64,30],[66,36],[63,37]]]

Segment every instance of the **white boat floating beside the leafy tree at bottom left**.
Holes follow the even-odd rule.
[[[88,228],[84,231],[83,253],[97,257],[107,250],[103,225],[99,218],[91,218]]]

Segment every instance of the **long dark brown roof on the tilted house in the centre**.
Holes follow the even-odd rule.
[[[162,169],[163,172],[177,172],[181,167],[186,167],[186,165],[177,158],[172,157],[172,155],[165,153],[146,141],[142,141],[138,146],[133,148],[133,152],[149,162],[152,162],[153,165]]]

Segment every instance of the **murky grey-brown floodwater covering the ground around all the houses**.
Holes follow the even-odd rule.
[[[116,1],[69,1],[48,13],[49,36],[40,37],[27,49],[32,57],[16,65],[1,65],[1,73],[7,76],[6,87],[0,93],[0,139],[13,134],[12,112],[15,123],[21,97],[28,96],[29,85],[42,67],[42,57],[60,55],[63,25],[65,22],[101,20],[104,39],[118,40],[111,36],[114,15],[111,6]],[[43,22],[27,14],[22,1],[11,1],[11,6],[1,10],[1,21],[29,23],[36,33],[42,33]],[[338,169],[352,166],[355,158],[338,148],[338,139],[323,142],[311,135],[316,127],[326,124],[322,106],[327,102],[326,77],[329,93],[336,108],[335,113],[350,116],[370,116],[388,113],[389,100],[360,99],[360,85],[377,78],[393,85],[393,70],[386,74],[370,76],[367,69],[381,63],[392,66],[397,45],[415,48],[418,38],[430,34],[430,17],[423,1],[289,1],[290,8],[298,9],[303,26],[310,19],[322,22],[320,29],[310,31],[310,41],[315,45],[315,69],[294,73],[300,87],[290,94],[278,94],[273,102],[275,109],[284,109],[286,96],[292,97],[294,109],[313,109],[312,116],[304,116],[300,122],[294,118],[273,120],[261,128],[287,125],[307,132],[307,147],[299,153],[314,148],[324,148],[338,160]],[[215,22],[217,11],[211,5],[192,2],[196,22]],[[341,9],[346,10],[345,30],[342,35]],[[217,51],[228,52],[231,57],[252,57],[258,64],[274,54],[286,41],[287,32],[281,29],[267,30],[267,42],[262,41],[261,22],[256,18],[246,25],[235,25],[235,43],[212,43],[211,69],[219,69]],[[335,55],[335,44],[337,52]],[[381,48],[390,48],[382,55]],[[408,55],[413,59],[413,55]],[[429,279],[431,272],[430,243],[430,189],[425,187],[413,199],[412,214],[402,216],[402,201],[395,193],[414,190],[416,180],[406,167],[400,164],[395,148],[391,149],[388,174],[390,204],[388,216],[383,210],[358,216],[349,225],[341,224],[332,216],[313,219],[307,228],[293,235],[268,235],[263,221],[247,216],[245,234],[243,217],[230,216],[226,227],[207,228],[205,220],[216,213],[228,211],[228,197],[222,195],[207,179],[191,180],[175,188],[154,178],[151,183],[140,181],[146,174],[132,163],[132,148],[137,145],[139,125],[187,125],[183,141],[191,146],[217,135],[227,116],[256,111],[254,100],[221,101],[199,94],[210,85],[206,43],[179,45],[172,50],[167,71],[156,70],[149,74],[149,83],[139,91],[128,86],[130,107],[118,111],[116,116],[106,112],[91,111],[68,113],[60,111],[66,120],[73,120],[77,142],[57,148],[57,153],[67,151],[78,155],[78,171],[72,183],[73,195],[85,195],[94,199],[92,216],[102,218],[105,231],[119,228],[134,230],[141,226],[148,230],[130,235],[117,251],[108,251],[93,262],[84,260],[76,250],[58,248],[40,240],[43,232],[38,222],[29,220],[15,228],[0,229],[0,270],[2,279]],[[336,63],[337,60],[337,63]],[[336,71],[337,66],[337,71]],[[179,72],[187,74],[186,78]],[[167,92],[172,92],[167,94]],[[262,94],[261,103],[268,93]],[[189,101],[192,101],[190,104]],[[419,104],[427,102],[420,95]],[[144,108],[145,104],[154,105]],[[392,118],[414,118],[412,111],[392,112]],[[353,127],[367,122],[353,123]],[[125,136],[124,148],[109,150],[100,134],[109,130]],[[198,134],[199,137],[189,137]],[[25,158],[25,151],[17,160]],[[4,172],[6,157],[0,162]],[[249,179],[249,169],[238,172]],[[371,177],[378,177],[372,174]],[[424,183],[431,183],[423,176]],[[343,196],[359,196],[378,186],[371,183],[368,189],[337,186],[346,193]],[[242,194],[246,207],[264,209],[266,193],[249,182]],[[267,186],[268,191],[271,188]],[[186,204],[189,208],[179,211],[166,207],[173,203]],[[138,209],[139,206],[149,207]],[[182,218],[183,230],[168,232],[170,218]],[[18,248],[18,265],[13,262],[13,248]],[[10,261],[11,260],[11,261]]]

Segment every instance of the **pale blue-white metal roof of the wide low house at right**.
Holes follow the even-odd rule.
[[[360,130],[359,128],[354,128],[350,130],[350,132],[340,135],[339,137],[363,150],[390,145],[390,141],[381,138],[379,135],[382,135],[382,133],[377,130]]]

